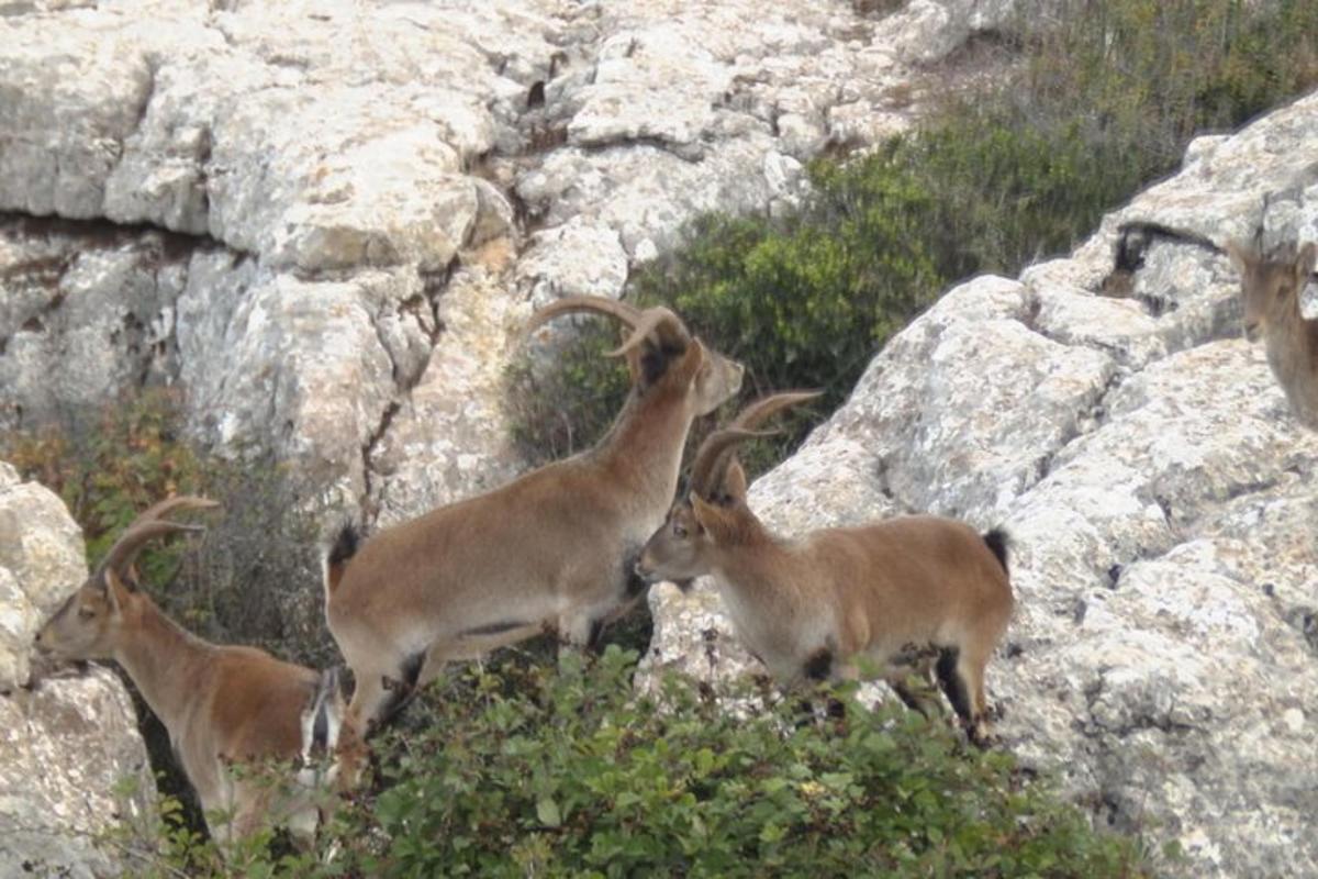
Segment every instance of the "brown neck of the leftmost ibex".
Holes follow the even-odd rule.
[[[115,651],[146,704],[173,739],[182,729],[198,673],[211,662],[214,647],[166,617],[146,596],[138,596],[140,626]]]

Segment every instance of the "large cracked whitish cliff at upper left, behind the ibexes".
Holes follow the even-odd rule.
[[[200,436],[368,513],[498,481],[527,300],[791,204],[803,161],[907,124],[907,59],[1010,8],[9,4],[0,211],[90,223],[0,223],[0,430],[181,382]]]

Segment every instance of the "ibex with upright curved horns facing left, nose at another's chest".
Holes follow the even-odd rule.
[[[973,741],[983,741],[985,666],[1012,611],[1007,538],[912,515],[797,540],[770,534],[746,505],[735,445],[791,393],[749,406],[696,455],[691,492],[646,543],[647,581],[712,575],[737,637],[784,684],[855,679],[873,666],[902,700],[912,672],[936,671]]]

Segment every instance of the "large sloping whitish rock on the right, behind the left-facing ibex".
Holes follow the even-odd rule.
[[[751,490],[783,534],[1004,525],[1006,746],[1101,821],[1180,841],[1188,876],[1318,874],[1318,435],[1240,337],[1226,258],[1157,244],[1130,298],[1095,291],[1127,219],[1318,239],[1315,132],[1318,95],[1197,144],[1072,257],[952,290]],[[651,604],[651,663],[751,666],[708,584]]]

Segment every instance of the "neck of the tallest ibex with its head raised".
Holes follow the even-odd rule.
[[[597,460],[638,489],[663,494],[667,506],[677,490],[681,452],[693,418],[679,395],[656,389],[633,395],[600,443]]]

